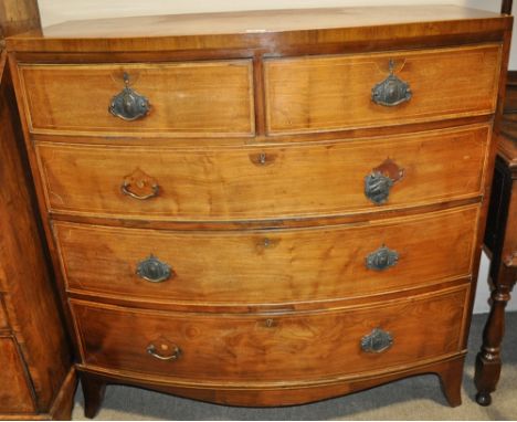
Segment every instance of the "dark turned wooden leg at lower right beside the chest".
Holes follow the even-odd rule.
[[[476,357],[476,401],[481,405],[492,402],[490,393],[495,391],[500,374],[500,344],[505,334],[505,307],[510,298],[515,284],[515,268],[502,264],[499,275],[492,292],[492,308],[483,331],[483,346]]]

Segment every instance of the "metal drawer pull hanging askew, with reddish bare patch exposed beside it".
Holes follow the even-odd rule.
[[[365,178],[366,197],[376,204],[384,203],[388,201],[393,183],[401,180],[403,176],[404,170],[388,158]]]

